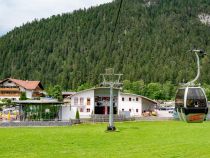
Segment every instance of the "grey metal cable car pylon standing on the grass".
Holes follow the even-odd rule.
[[[115,131],[116,128],[113,119],[113,88],[119,88],[122,85],[120,78],[123,74],[115,74],[113,68],[108,68],[106,69],[106,73],[101,75],[103,77],[102,85],[110,87],[109,125],[107,131]]]

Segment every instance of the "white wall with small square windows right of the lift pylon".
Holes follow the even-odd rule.
[[[124,101],[122,100],[124,98]],[[131,101],[129,100],[131,98]],[[136,100],[138,98],[138,101]],[[142,98],[138,95],[120,93],[118,97],[118,113],[130,111],[130,116],[142,115]],[[136,111],[138,109],[138,112]]]

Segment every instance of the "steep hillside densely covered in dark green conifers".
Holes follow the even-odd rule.
[[[100,73],[113,67],[123,80],[145,83],[188,81],[196,74],[195,57],[210,54],[209,0],[124,0],[111,52],[109,42],[119,0],[35,20],[0,38],[0,79],[41,80],[75,89],[97,84]],[[201,80],[210,84],[209,56],[202,59]]]

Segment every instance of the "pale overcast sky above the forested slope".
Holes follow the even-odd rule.
[[[112,0],[0,0],[0,36],[33,19],[47,18]]]

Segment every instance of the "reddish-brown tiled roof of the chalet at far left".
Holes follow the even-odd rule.
[[[41,85],[41,82],[40,81],[25,81],[25,80],[18,80],[18,79],[13,79],[13,78],[8,78],[8,79],[5,79],[3,81],[0,81],[1,82],[4,82],[6,80],[10,80],[14,83],[16,83],[17,85],[25,88],[25,89],[28,89],[28,90],[34,90],[36,89],[38,86],[43,89],[42,85]]]

